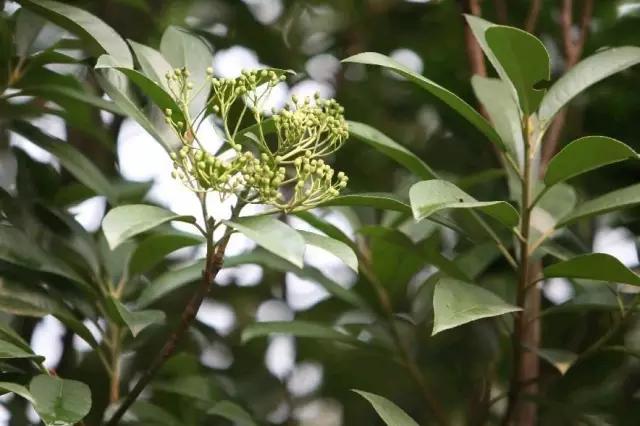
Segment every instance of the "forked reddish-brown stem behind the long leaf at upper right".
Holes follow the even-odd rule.
[[[573,33],[573,0],[563,0],[560,13],[560,28],[562,29],[562,45],[565,56],[565,72],[578,63],[584,51],[584,45],[589,35],[589,24],[593,16],[593,0],[584,0],[582,16],[580,18],[580,33],[574,40]],[[545,144],[542,147],[540,173],[544,174],[547,164],[555,155],[562,131],[567,121],[567,108],[558,113],[547,132]]]

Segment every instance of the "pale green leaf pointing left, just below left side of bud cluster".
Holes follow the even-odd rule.
[[[102,230],[113,250],[125,240],[173,220],[195,223],[193,216],[178,215],[146,204],[131,204],[109,210],[102,221]]]

